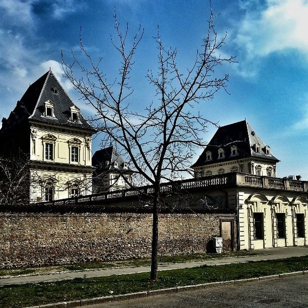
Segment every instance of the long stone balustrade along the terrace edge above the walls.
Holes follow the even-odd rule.
[[[289,179],[271,178],[264,176],[249,175],[243,173],[226,173],[211,177],[200,177],[188,180],[174,181],[161,184],[162,194],[178,193],[180,191],[195,191],[203,189],[213,189],[218,187],[252,187],[266,189],[282,189],[291,191],[308,192],[307,181],[294,181]],[[153,186],[141,186],[131,189],[116,190],[100,194],[73,197],[68,199],[42,202],[40,204],[70,205],[70,204],[90,204],[100,201],[124,199],[137,196],[149,196],[153,193]]]

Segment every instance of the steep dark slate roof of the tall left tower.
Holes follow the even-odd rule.
[[[49,102],[53,106],[54,117],[44,116],[45,102]],[[11,126],[17,120],[29,119],[48,124],[60,124],[95,131],[81,113],[79,113],[78,121],[71,121],[71,107],[76,106],[66,94],[53,72],[49,70],[29,86],[21,100],[17,102],[17,106],[11,112],[8,120],[4,119],[3,122],[7,122],[8,126]]]

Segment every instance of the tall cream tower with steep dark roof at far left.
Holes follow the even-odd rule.
[[[28,88],[2,123],[3,155],[30,160],[30,202],[92,193],[95,130],[51,70]]]

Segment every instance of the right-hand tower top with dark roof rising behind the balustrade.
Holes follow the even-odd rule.
[[[246,121],[221,126],[192,166],[196,175],[243,172],[275,176],[279,160]]]

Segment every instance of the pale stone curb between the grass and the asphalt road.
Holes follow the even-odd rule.
[[[185,285],[185,286],[178,286],[178,287],[173,287],[173,288],[142,291],[142,292],[136,292],[136,293],[127,293],[127,294],[120,294],[120,295],[110,295],[110,296],[86,298],[86,299],[79,299],[79,300],[72,300],[72,301],[63,301],[63,302],[56,302],[56,303],[50,303],[50,304],[45,304],[45,305],[39,305],[39,306],[31,306],[31,307],[26,307],[26,308],[74,308],[74,307],[99,304],[99,303],[105,303],[105,302],[111,302],[111,301],[121,301],[121,300],[142,298],[142,297],[148,297],[148,296],[154,296],[154,295],[173,294],[173,293],[180,293],[180,292],[185,292],[185,291],[200,290],[200,289],[206,289],[206,288],[211,288],[215,286],[235,285],[235,284],[244,284],[244,283],[259,282],[259,281],[266,281],[266,280],[273,280],[273,279],[283,279],[285,277],[299,276],[299,275],[308,275],[308,270],[300,271],[300,272],[283,273],[283,274],[277,274],[277,275],[261,276],[261,277],[255,277],[255,278],[207,282],[207,283],[201,283],[201,284],[195,284],[195,285]]]

